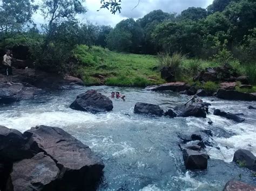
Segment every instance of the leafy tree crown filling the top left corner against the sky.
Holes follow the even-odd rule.
[[[2,0],[0,3],[0,32],[19,31],[38,8],[33,0]]]

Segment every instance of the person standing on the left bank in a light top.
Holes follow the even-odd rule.
[[[6,84],[8,85],[15,84],[14,82],[12,82],[12,67],[11,67],[12,60],[14,60],[14,58],[12,58],[11,51],[8,49],[6,50],[5,55],[3,56],[3,65],[5,66],[5,74],[7,76]],[[23,62],[23,60],[17,60],[17,61]]]

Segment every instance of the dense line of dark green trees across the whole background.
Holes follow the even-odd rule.
[[[121,11],[119,1],[100,1],[101,8]],[[41,10],[45,24],[32,23]],[[66,69],[76,45],[97,45],[111,51],[136,54],[179,52],[190,57],[222,62],[252,62],[256,58],[256,2],[214,0],[206,9],[188,8],[180,14],[154,10],[143,18],[122,20],[115,27],[82,24],[83,1],[2,0],[0,48],[29,47],[38,68]]]

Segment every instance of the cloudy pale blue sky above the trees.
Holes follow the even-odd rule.
[[[36,0],[38,3],[41,0]],[[79,15],[78,18],[81,22],[91,22],[98,25],[110,25],[115,26],[121,20],[126,18],[138,19],[146,15],[147,13],[161,9],[164,12],[180,13],[181,11],[194,6],[206,8],[212,4],[213,0],[122,0],[122,11],[112,15],[110,11],[100,8],[100,0],[86,0],[84,5],[87,12],[84,15]],[[136,5],[138,6],[134,8]],[[44,23],[43,16],[38,11],[33,15],[33,20],[36,24]]]

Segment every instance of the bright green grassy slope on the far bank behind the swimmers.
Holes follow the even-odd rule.
[[[79,61],[77,72],[85,84],[138,86],[164,83],[157,70],[157,58],[151,55],[111,52],[97,46],[77,46],[73,55]]]

